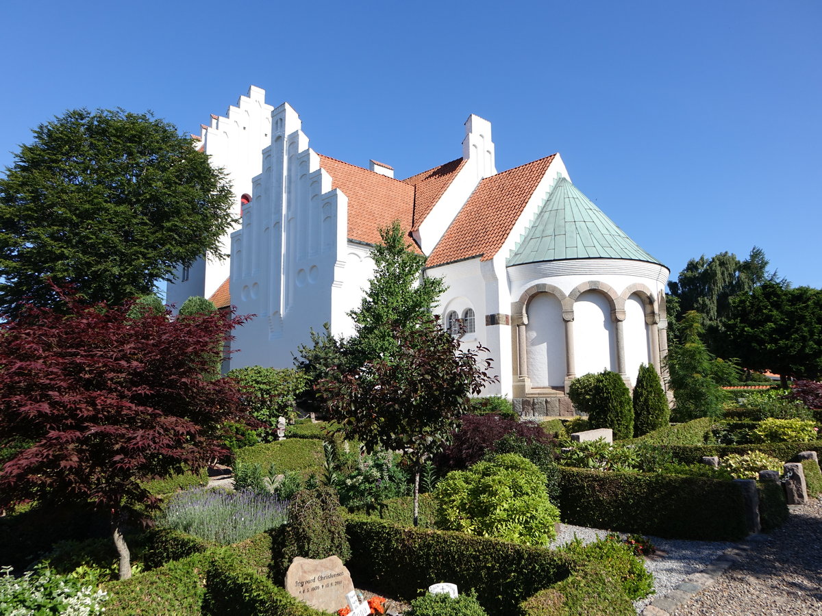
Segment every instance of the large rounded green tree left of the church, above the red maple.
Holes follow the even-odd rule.
[[[0,178],[0,312],[48,283],[121,304],[173,278],[233,218],[224,173],[151,113],[76,109],[34,129]]]

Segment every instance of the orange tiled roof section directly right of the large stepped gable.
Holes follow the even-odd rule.
[[[414,187],[366,168],[319,154],[320,167],[331,177],[331,188],[339,188],[349,199],[349,240],[376,244],[380,229],[395,220],[410,229]],[[409,242],[415,251],[416,244]]]

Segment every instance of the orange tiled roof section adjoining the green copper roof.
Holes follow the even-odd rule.
[[[486,177],[429,255],[427,267],[492,259],[510,235],[556,154]]]

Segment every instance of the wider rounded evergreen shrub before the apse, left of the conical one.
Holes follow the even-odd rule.
[[[633,438],[634,407],[630,389],[616,372],[603,370],[598,375],[574,379],[568,397],[579,411],[588,413],[592,429],[611,428],[616,440]]]

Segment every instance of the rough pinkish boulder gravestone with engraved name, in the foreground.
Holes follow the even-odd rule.
[[[336,612],[345,607],[354,585],[339,556],[321,560],[298,556],[285,574],[285,590],[312,608]]]

